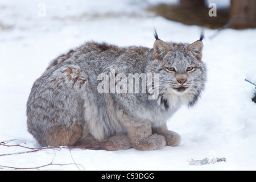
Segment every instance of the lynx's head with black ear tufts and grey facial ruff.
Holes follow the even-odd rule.
[[[192,44],[163,42],[155,31],[152,62],[159,73],[159,100],[168,101],[165,107],[174,102],[174,96],[189,106],[199,98],[206,80],[206,67],[201,61],[203,38],[202,32]]]

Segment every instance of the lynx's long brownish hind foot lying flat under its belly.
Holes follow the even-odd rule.
[[[82,148],[91,150],[117,151],[131,148],[131,143],[125,134],[117,134],[103,140],[97,140],[89,134],[86,138],[79,140],[75,146],[81,146]]]

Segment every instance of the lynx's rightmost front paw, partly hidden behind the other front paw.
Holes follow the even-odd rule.
[[[179,146],[181,142],[181,137],[174,131],[170,131],[167,129],[166,125],[163,125],[158,128],[152,128],[153,133],[163,135],[166,138],[167,146]]]

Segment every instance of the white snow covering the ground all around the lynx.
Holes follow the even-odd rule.
[[[153,29],[165,41],[192,43],[200,27],[185,26],[144,9],[164,0],[63,1],[2,0],[0,2],[0,142],[40,147],[27,131],[26,102],[36,78],[49,61],[70,48],[96,40],[118,46],[154,43]],[[168,1],[177,3],[178,1]],[[214,1],[210,1],[214,2]],[[220,2],[221,7],[229,1]],[[46,16],[39,16],[39,3]],[[42,15],[42,14],[40,14]],[[181,135],[179,147],[156,151],[93,151],[62,148],[0,156],[0,166],[38,167],[41,170],[255,170],[256,29],[205,30],[203,60],[207,86],[194,107],[182,107],[168,120]],[[0,146],[1,154],[30,151]],[[226,158],[226,162],[191,166],[187,160]],[[80,164],[80,165],[79,165]],[[9,169],[9,168],[5,168]]]

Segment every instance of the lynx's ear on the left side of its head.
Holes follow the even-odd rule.
[[[154,43],[154,57],[155,59],[162,59],[163,55],[167,53],[167,51],[171,51],[171,47],[168,46],[167,43],[163,42],[163,40],[156,39]]]

